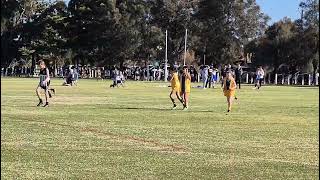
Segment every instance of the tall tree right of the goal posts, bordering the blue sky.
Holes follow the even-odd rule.
[[[268,20],[254,0],[203,0],[197,18],[208,57],[216,64],[236,60],[244,45],[262,35]]]

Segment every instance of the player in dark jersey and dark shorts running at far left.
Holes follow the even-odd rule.
[[[50,73],[49,73],[49,69],[46,67],[46,64],[44,63],[44,61],[40,60],[39,65],[40,65],[40,73],[39,73],[40,82],[39,82],[37,89],[36,89],[36,94],[39,98],[39,104],[37,106],[40,106],[41,104],[43,104],[43,101],[40,97],[40,90],[43,89],[45,91],[45,97],[46,97],[46,104],[43,107],[46,107],[49,105],[48,97],[49,98],[52,97],[50,91],[55,93],[55,90],[49,89]]]

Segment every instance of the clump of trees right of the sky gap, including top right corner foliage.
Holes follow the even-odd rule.
[[[284,18],[247,44],[246,51],[254,52],[255,63],[276,67],[275,71],[282,64],[304,72],[319,68],[319,1],[306,0],[300,9],[301,19]]]

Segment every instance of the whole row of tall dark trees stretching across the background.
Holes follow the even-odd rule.
[[[318,4],[305,0],[300,21],[268,27],[255,0],[1,0],[1,66],[34,66],[39,57],[57,65],[163,61],[166,30],[174,63],[185,29],[193,63],[204,54],[222,64],[253,53],[257,64],[317,64]]]

